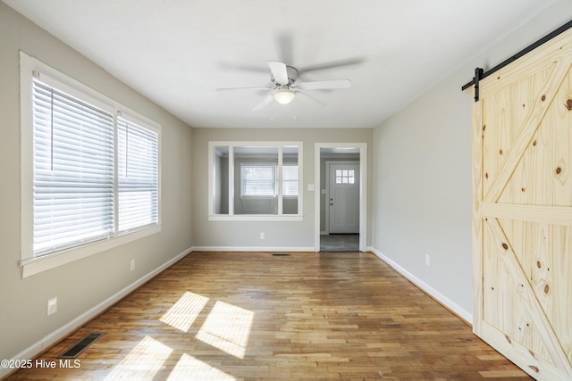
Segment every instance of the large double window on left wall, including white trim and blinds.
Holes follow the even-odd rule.
[[[159,127],[23,53],[21,93],[22,267],[158,231]]]

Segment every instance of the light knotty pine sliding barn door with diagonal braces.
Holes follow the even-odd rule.
[[[572,380],[572,29],[479,83],[474,331],[539,380]]]

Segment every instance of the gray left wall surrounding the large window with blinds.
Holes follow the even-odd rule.
[[[22,279],[19,50],[162,125],[161,233]],[[38,344],[191,247],[191,128],[0,3],[0,359]],[[136,268],[130,271],[130,260]],[[46,316],[47,300],[58,311]],[[0,373],[1,375],[1,373]]]

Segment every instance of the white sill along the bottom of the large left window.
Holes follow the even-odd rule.
[[[105,241],[97,241],[91,244],[73,247],[62,252],[47,254],[38,258],[29,258],[20,261],[21,277],[31,277],[48,269],[55,269],[72,261],[79,261],[90,255],[105,252],[121,244],[128,244],[146,236],[151,236],[161,231],[161,225],[115,236]]]

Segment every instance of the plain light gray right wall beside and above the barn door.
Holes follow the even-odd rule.
[[[569,0],[553,4],[374,129],[374,250],[469,316],[473,99],[460,87],[475,67],[490,69],[571,19]]]

